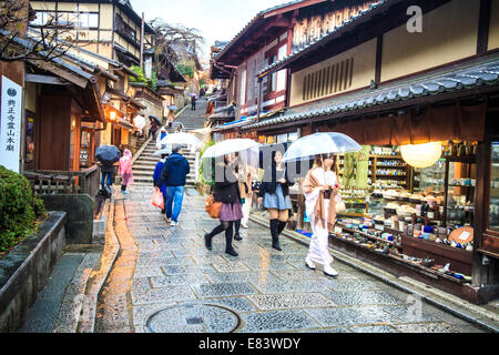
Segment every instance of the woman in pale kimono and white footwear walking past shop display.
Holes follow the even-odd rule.
[[[336,222],[336,202],[340,197],[334,154],[316,155],[314,168],[303,182],[307,216],[314,232],[305,258],[305,265],[315,270],[314,264],[322,264],[326,276],[336,277],[338,273],[330,266],[334,258],[329,253],[329,232]],[[333,168],[335,166],[335,168]]]

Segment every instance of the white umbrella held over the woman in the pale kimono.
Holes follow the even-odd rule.
[[[312,159],[316,154],[345,154],[358,152],[363,148],[343,133],[320,132],[301,138],[287,149],[283,162]]]

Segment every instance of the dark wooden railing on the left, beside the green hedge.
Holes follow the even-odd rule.
[[[82,171],[38,170],[26,171],[33,191],[42,194],[89,194],[94,197],[99,191],[101,169],[92,165]]]

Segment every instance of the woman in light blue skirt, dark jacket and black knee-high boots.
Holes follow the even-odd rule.
[[[293,207],[289,199],[289,186],[293,183],[287,178],[283,154],[281,149],[272,152],[272,163],[264,171],[258,193],[258,203],[267,209],[271,215],[272,247],[277,251],[282,251],[279,235],[286,227],[289,210]]]

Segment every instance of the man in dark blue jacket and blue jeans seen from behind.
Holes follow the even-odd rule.
[[[170,225],[179,225],[179,215],[182,211],[182,202],[184,200],[185,181],[191,171],[187,159],[182,155],[180,145],[172,150],[172,154],[161,170],[160,179],[156,187],[161,189],[166,184],[166,204],[165,204],[165,221]]]

